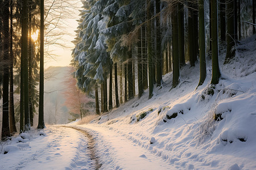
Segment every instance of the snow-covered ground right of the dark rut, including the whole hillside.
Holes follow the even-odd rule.
[[[172,76],[166,75],[164,87],[155,88],[152,99],[147,100],[145,92],[141,99],[131,100],[89,125],[79,125],[95,134],[103,169],[134,169],[134,164],[137,169],[159,169],[147,163],[151,157],[154,164],[163,166],[160,169],[256,169],[254,39],[237,46],[237,57],[230,65],[223,66],[224,55],[220,56],[222,78],[217,86],[209,84],[210,62],[207,80],[197,90],[199,65],[186,66],[181,69],[179,88],[169,91]],[[142,113],[146,117],[138,121]],[[174,113],[177,117],[167,118]],[[222,120],[215,121],[214,114],[221,114]],[[150,144],[151,137],[155,143]],[[125,146],[127,140],[135,145],[134,158],[119,154],[118,145],[131,151]],[[136,152],[138,146],[141,154]],[[104,148],[112,149],[106,154]],[[141,161],[142,153],[145,161]]]

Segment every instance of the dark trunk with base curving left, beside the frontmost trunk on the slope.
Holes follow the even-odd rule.
[[[205,25],[204,25],[204,0],[199,0],[199,49],[200,49],[200,80],[198,86],[204,83],[206,77],[205,63]]]

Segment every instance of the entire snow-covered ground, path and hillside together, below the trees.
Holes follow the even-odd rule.
[[[167,74],[150,100],[146,91],[90,124],[48,126],[2,142],[0,168],[256,169],[255,37],[237,46],[229,65],[220,56],[216,86],[209,84],[210,62],[197,89],[199,65],[185,66],[178,88],[170,91]]]

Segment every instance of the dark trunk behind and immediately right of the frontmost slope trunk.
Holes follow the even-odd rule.
[[[225,16],[225,11],[226,11],[226,4],[225,0],[220,1],[220,38],[221,41],[226,41],[226,16]]]

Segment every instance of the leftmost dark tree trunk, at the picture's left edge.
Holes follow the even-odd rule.
[[[9,0],[3,1],[3,108],[2,108],[2,135],[10,137],[9,127]]]

